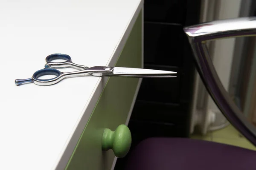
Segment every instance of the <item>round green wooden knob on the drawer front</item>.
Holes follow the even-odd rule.
[[[119,125],[115,131],[105,129],[102,136],[102,150],[112,149],[115,156],[123,158],[131,147],[131,132],[126,125]]]

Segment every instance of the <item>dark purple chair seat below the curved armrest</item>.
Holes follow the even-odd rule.
[[[183,138],[148,138],[130,151],[125,170],[256,170],[256,151]]]

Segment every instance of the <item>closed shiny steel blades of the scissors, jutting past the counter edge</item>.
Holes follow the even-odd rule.
[[[128,77],[177,77],[175,71],[163,71],[144,68],[114,67],[112,73],[116,76]]]

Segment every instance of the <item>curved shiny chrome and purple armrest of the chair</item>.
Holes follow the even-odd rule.
[[[256,17],[217,20],[183,28],[201,79],[224,116],[256,146],[256,128],[248,122],[223,87],[209,56],[206,41],[231,37],[256,36]]]

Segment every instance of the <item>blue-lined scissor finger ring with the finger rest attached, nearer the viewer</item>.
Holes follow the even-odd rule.
[[[55,75],[55,76],[59,77],[59,76],[61,76],[61,72],[54,68],[44,68],[44,69],[36,71],[33,74],[32,78],[37,81],[50,81],[50,80],[57,78],[57,77],[54,77],[51,79],[38,79],[38,77],[45,76],[45,75]]]

